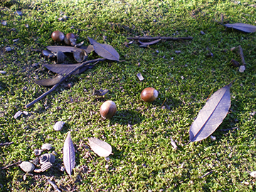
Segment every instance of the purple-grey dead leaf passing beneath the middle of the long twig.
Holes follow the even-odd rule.
[[[54,64],[54,65],[52,65],[52,64],[43,64],[43,66],[45,66],[48,70],[50,70],[54,73],[61,74],[61,75],[65,75],[65,74],[70,73],[71,70],[78,67],[79,65],[82,65],[82,64],[80,64],[80,63],[79,64],[68,64],[68,65],[65,65],[65,64]],[[83,68],[80,68],[79,70],[76,70],[73,73],[73,75],[80,74],[80,73],[84,72],[85,70],[91,69],[93,67],[94,67],[94,65],[87,64]]]

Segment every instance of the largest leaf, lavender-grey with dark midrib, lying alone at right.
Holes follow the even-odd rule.
[[[191,142],[206,139],[215,132],[215,129],[223,122],[231,105],[230,84],[213,93],[206,105],[198,113],[198,117],[191,125],[189,136]]]

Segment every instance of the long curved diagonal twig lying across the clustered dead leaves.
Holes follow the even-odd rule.
[[[53,87],[50,88],[50,90],[48,90],[47,92],[44,92],[43,95],[39,96],[36,98],[36,100],[33,100],[33,102],[30,102],[28,105],[25,105],[25,108],[29,108],[32,105],[34,105],[36,102],[38,102],[39,100],[43,99],[43,97],[46,97],[46,95],[49,95],[50,92],[53,92],[53,90],[55,90],[56,87],[58,87],[58,85],[60,85],[61,82],[63,82],[63,80],[65,80],[66,78],[68,78],[70,75],[72,75],[76,70],[84,67],[85,65],[89,64],[89,63],[97,63],[99,61],[103,61],[105,60],[105,58],[97,58],[94,60],[87,60],[83,63],[81,63],[81,65],[79,65],[78,67],[74,68],[73,70],[70,71],[70,73],[68,73],[67,75],[64,75],[63,78],[61,78],[60,82],[58,82],[57,84],[55,84]]]

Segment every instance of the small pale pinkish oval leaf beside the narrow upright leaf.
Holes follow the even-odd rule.
[[[112,147],[110,144],[93,137],[88,138],[88,140],[92,151],[94,151],[98,156],[109,156],[112,154]]]

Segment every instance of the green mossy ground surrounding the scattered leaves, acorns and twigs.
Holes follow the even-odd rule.
[[[249,173],[256,169],[256,121],[251,114],[256,110],[255,33],[225,29],[216,22],[223,14],[224,22],[255,25],[255,8],[249,6],[255,1],[247,2],[1,0],[0,20],[7,25],[0,25],[0,70],[6,71],[0,75],[0,142],[14,144],[0,147],[0,166],[34,159],[33,150],[46,142],[53,144],[57,156],[54,167],[42,174],[24,174],[18,166],[0,169],[0,191],[53,191],[48,178],[66,191],[254,191],[255,178]],[[63,15],[68,19],[59,21]],[[73,32],[86,45],[87,36],[110,44],[125,62],[108,60],[73,75],[27,110],[27,116],[14,119],[18,110],[49,89],[33,80],[55,76],[42,66],[53,62],[33,51],[55,45],[50,38],[55,30]],[[149,48],[134,43],[127,48],[124,42],[131,36],[193,36],[193,41],[165,41]],[[239,45],[245,73],[230,66],[232,58],[241,62],[230,51]],[[13,50],[6,52],[7,46]],[[89,58],[98,56],[90,53]],[[139,82],[137,73],[145,80]],[[198,111],[232,80],[230,112],[213,133],[216,140],[188,144]],[[159,90],[155,102],[140,100],[145,87]],[[110,92],[96,97],[93,88]],[[111,120],[100,117],[105,100],[117,105]],[[54,132],[59,120],[65,126]],[[238,129],[220,131],[232,127]],[[60,171],[68,131],[76,150],[71,177]],[[113,147],[109,161],[90,150],[87,137]]]

